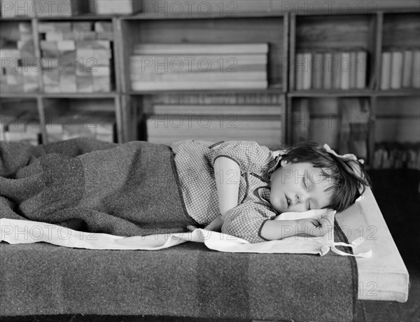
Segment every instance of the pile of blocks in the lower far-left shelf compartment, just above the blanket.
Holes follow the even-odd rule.
[[[0,137],[4,141],[25,141],[29,144],[40,143],[39,119],[25,111],[14,116],[3,116],[0,122]]]

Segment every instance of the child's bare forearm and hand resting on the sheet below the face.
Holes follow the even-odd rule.
[[[261,228],[261,237],[267,240],[283,239],[295,235],[322,236],[334,226],[334,217],[297,219],[294,221],[266,221]]]

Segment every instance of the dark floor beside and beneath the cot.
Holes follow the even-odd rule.
[[[406,303],[359,302],[357,322],[420,321],[420,172],[401,170],[371,171],[373,193],[395,244],[410,275]],[[401,202],[402,201],[402,202]],[[4,322],[211,322],[204,318],[165,316],[28,316],[2,318]],[[251,322],[219,320],[221,322]]]

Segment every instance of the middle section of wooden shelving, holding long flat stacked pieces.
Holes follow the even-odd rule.
[[[185,18],[171,17],[162,19],[162,17],[141,13],[138,15],[122,18],[118,20],[118,31],[122,43],[120,45],[120,66],[123,71],[121,78],[123,98],[123,116],[127,123],[134,123],[134,126],[128,127],[127,139],[132,136],[139,137],[135,117],[144,126],[148,126],[146,114],[153,114],[153,102],[158,102],[160,97],[186,95],[195,96],[202,94],[207,97],[219,97],[223,102],[226,95],[237,95],[246,97],[246,95],[255,95],[267,97],[277,95],[279,99],[284,100],[284,94],[287,90],[286,62],[288,59],[288,15],[279,15],[279,13],[241,13],[235,17],[208,15],[198,17],[190,15]],[[267,55],[267,88],[217,88],[202,90],[132,90],[130,86],[130,56],[133,55],[134,48],[139,43],[148,44],[235,44],[235,43],[267,43],[269,47]],[[235,58],[235,55],[231,55]],[[221,56],[222,57],[222,56]],[[203,75],[205,76],[205,75]],[[212,101],[217,101],[217,98]],[[239,102],[238,99],[237,102]],[[262,102],[262,101],[261,101]],[[282,101],[283,102],[283,101]],[[232,104],[232,103],[230,103]],[[210,104],[211,105],[211,104]],[[235,104],[233,104],[235,105]],[[280,104],[284,108],[284,104]],[[233,106],[231,106],[233,108]],[[279,108],[279,112],[281,108]],[[255,111],[255,116],[258,115]],[[258,115],[260,116],[260,115]],[[134,119],[133,119],[134,118]],[[149,123],[150,126],[150,123]],[[222,130],[222,129],[221,129]],[[181,131],[181,130],[180,130]],[[140,130],[143,135],[141,139],[147,139],[144,132],[147,129]],[[203,132],[205,132],[203,130]],[[137,134],[136,134],[137,133]],[[191,132],[191,135],[198,132]],[[284,141],[285,127],[278,125],[276,137],[279,141]],[[201,134],[201,133],[198,133]],[[193,138],[191,138],[193,139]],[[229,139],[229,137],[227,138]],[[211,140],[211,136],[209,136]]]

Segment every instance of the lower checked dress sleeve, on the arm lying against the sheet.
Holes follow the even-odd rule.
[[[275,214],[273,214],[273,218],[274,216]],[[251,243],[259,243],[266,241],[261,237],[260,231],[262,225],[271,219],[263,209],[259,209],[257,204],[246,202],[228,211],[222,232]]]

